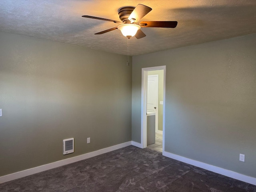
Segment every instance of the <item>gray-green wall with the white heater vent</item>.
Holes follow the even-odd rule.
[[[0,32],[0,60],[0,176],[131,140],[126,56]]]

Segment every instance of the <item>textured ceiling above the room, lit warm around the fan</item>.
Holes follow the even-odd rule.
[[[144,38],[130,39],[130,55],[256,33],[256,0],[2,0],[0,31],[126,54],[117,26],[82,18],[119,20],[118,9],[144,4],[152,8],[142,21],[178,21],[176,28],[142,28]]]

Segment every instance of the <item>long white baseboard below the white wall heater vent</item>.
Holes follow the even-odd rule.
[[[41,166],[38,166],[38,167],[30,168],[30,169],[27,169],[27,170],[19,171],[19,172],[16,172],[16,173],[4,175],[4,176],[0,177],[0,183],[8,182],[8,181],[11,181],[11,180],[14,180],[14,179],[18,179],[18,178],[22,178],[22,177],[25,177],[25,176],[35,174],[35,173],[46,171],[46,170],[49,170],[49,169],[52,169],[52,168],[56,168],[56,167],[60,167],[60,166],[63,166],[63,165],[74,163],[74,162],[77,162],[77,161],[80,161],[80,160],[88,159],[88,158],[91,158],[91,157],[94,157],[94,156],[97,156],[97,155],[100,155],[100,154],[104,154],[104,153],[114,151],[114,150],[117,150],[117,149],[120,149],[120,148],[123,148],[123,147],[126,147],[126,146],[130,146],[131,144],[132,144],[132,142],[128,141],[128,142],[125,142],[125,143],[121,143],[121,144],[118,144],[118,145],[114,145],[114,146],[111,146],[111,147],[100,149],[100,150],[97,150],[97,151],[94,151],[94,152],[82,154],[82,155],[71,157],[71,158],[68,158],[68,159],[64,159],[64,160],[56,161],[56,162],[53,162],[53,163],[41,165]]]

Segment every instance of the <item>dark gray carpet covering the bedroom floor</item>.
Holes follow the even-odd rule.
[[[1,192],[256,192],[256,186],[128,146],[0,184]]]

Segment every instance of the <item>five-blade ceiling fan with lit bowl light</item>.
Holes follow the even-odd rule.
[[[119,26],[116,26],[114,28],[110,28],[110,29],[98,32],[96,33],[96,35],[104,34],[106,32],[119,29],[121,30],[122,34],[127,38],[131,38],[132,36],[135,36],[137,39],[140,39],[146,36],[146,34],[144,34],[142,30],[140,30],[141,27],[175,28],[177,26],[178,24],[177,21],[142,21],[138,23],[138,21],[141,20],[151,10],[152,8],[142,4],[138,4],[135,8],[132,6],[122,7],[118,11],[118,15],[121,21],[99,18],[94,16],[88,16],[88,15],[83,15],[82,17],[110,21],[114,23],[122,23]]]

